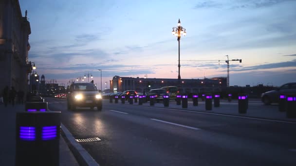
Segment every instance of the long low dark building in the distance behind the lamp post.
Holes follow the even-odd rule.
[[[181,92],[199,93],[203,91],[220,91],[226,87],[226,77],[212,79],[162,79],[162,78],[132,78],[114,76],[110,80],[111,92],[123,92],[125,90],[136,90],[148,92],[149,89],[161,88],[163,86],[178,86]]]

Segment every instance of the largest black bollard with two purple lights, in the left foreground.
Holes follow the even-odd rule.
[[[16,166],[59,166],[60,112],[16,115]]]

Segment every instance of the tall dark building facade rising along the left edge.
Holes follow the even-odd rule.
[[[19,0],[0,0],[0,90],[8,85],[28,91],[30,23],[22,17]]]

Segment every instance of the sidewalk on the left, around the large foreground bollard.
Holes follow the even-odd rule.
[[[0,166],[15,166],[16,113],[24,110],[24,105],[15,105],[14,107],[8,105],[4,107],[3,104],[0,104]],[[59,141],[59,165],[79,166],[62,136],[60,136]]]

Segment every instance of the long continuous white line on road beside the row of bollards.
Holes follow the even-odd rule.
[[[124,105],[124,106],[131,106],[131,105]],[[151,108],[151,107],[147,107],[147,106],[136,106],[136,105],[134,105],[133,107]],[[238,117],[238,118],[244,118],[244,119],[255,119],[255,120],[263,120],[263,121],[271,121],[271,122],[296,124],[296,122],[289,122],[289,121],[284,121],[284,120],[271,120],[271,119],[263,119],[263,118],[256,118],[256,117],[245,117],[245,116],[233,116],[233,115],[216,114],[216,113],[205,113],[205,112],[202,112],[202,111],[188,111],[188,110],[178,110],[178,109],[160,108],[160,107],[153,107],[153,109],[166,109],[166,110],[174,110],[174,111],[191,112],[191,113],[197,113],[197,114],[209,114],[209,115],[218,115],[218,116],[230,116],[230,117]]]

